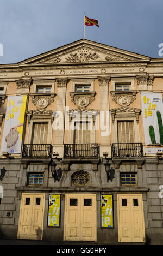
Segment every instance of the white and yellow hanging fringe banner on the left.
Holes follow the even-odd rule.
[[[26,103],[27,95],[8,97],[1,154],[2,152],[8,152],[9,154],[21,153]]]

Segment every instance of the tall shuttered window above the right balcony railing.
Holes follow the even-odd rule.
[[[118,143],[134,143],[134,122],[122,121],[117,122]]]

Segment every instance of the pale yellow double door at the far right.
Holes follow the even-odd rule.
[[[145,242],[141,194],[118,194],[118,242]]]

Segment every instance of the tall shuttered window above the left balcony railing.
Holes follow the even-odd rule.
[[[34,123],[32,144],[47,144],[48,123]]]

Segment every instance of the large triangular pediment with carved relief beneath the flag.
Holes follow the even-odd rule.
[[[26,59],[20,65],[73,64],[91,62],[148,61],[150,57],[82,39],[41,55]]]

